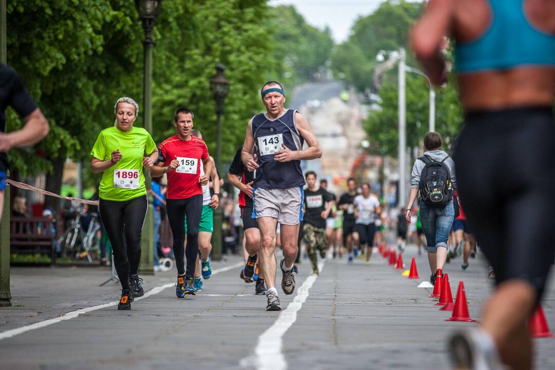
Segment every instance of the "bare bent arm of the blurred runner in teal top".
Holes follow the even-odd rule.
[[[430,0],[426,12],[410,35],[416,57],[435,85],[445,83],[447,77],[447,65],[441,49],[453,23],[454,8],[452,0]]]

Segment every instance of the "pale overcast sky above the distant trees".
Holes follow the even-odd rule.
[[[408,0],[420,2],[421,0]],[[374,12],[384,0],[270,0],[271,6],[294,5],[312,26],[329,26],[337,43],[349,36],[359,16]]]

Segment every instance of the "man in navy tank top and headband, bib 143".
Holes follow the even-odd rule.
[[[281,225],[284,257],[280,261],[281,289],[295,290],[293,263],[297,256],[299,222],[302,220],[302,187],[305,185],[301,160],[320,158],[322,150],[309,123],[296,110],[285,109],[285,91],[275,81],[260,89],[265,113],[255,115],[246,130],[241,160],[254,172],[253,218],[260,227],[261,262],[268,291],[268,311],[280,311],[275,288],[276,227]],[[306,141],[307,148],[302,148]]]

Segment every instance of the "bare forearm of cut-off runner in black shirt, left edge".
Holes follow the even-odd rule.
[[[48,134],[49,126],[42,114],[41,108],[37,108],[23,118],[25,125],[21,130],[11,133],[0,133],[0,151],[8,151],[11,148],[30,146],[41,141]]]

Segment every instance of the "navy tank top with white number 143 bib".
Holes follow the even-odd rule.
[[[278,118],[271,120],[266,113],[253,117],[251,128],[254,136],[253,154],[258,156],[259,168],[255,171],[254,186],[261,189],[289,189],[304,186],[301,161],[278,162],[274,153],[284,144],[291,150],[301,150],[304,139],[295,125],[296,110],[288,109]]]

